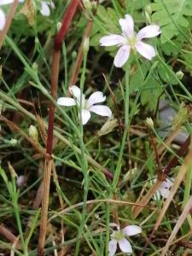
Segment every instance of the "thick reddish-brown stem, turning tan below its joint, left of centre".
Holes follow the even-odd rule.
[[[56,98],[57,95],[57,83],[58,83],[58,75],[60,68],[60,56],[61,56],[61,46],[63,38],[67,33],[68,26],[73,19],[73,15],[79,5],[79,0],[72,0],[68,6],[66,15],[62,20],[61,30],[58,32],[55,38],[55,52],[52,60],[51,67],[51,96],[53,99]],[[48,138],[47,138],[47,154],[52,154],[53,149],[53,131],[54,131],[54,119],[55,119],[55,106],[51,102],[49,105],[49,125],[48,125]],[[41,224],[40,224],[40,232],[38,237],[38,256],[44,255],[44,243],[46,237],[47,230],[47,214],[48,214],[48,206],[49,206],[49,184],[50,184],[50,175],[52,169],[52,160],[45,160],[44,162],[44,191],[43,191],[43,200],[42,200],[42,212],[41,212]]]

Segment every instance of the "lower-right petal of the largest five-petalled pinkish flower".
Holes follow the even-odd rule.
[[[140,55],[143,55],[143,57],[145,57],[149,61],[156,55],[154,47],[149,44],[145,44],[139,41],[136,43],[135,47]]]

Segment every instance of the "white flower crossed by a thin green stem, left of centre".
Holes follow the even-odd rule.
[[[72,93],[73,98],[69,97],[61,97],[57,100],[57,104],[61,106],[80,106],[80,95],[81,91],[78,86],[73,85],[69,87],[70,92]],[[112,116],[112,112],[110,108],[103,105],[95,105],[96,103],[104,102],[106,96],[103,96],[102,91],[96,91],[92,93],[88,100],[85,100],[84,94],[82,94],[82,109],[81,109],[81,117],[82,117],[82,124],[85,125],[88,120],[90,119],[90,112],[97,113],[102,116]]]

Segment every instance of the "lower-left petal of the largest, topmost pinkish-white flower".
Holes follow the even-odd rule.
[[[114,57],[114,66],[115,67],[123,67],[125,62],[129,59],[130,56],[130,49],[129,45],[123,45],[119,48],[117,54]]]

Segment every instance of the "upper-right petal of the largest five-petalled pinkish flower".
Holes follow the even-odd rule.
[[[157,26],[157,25],[145,26],[137,33],[137,40],[141,40],[143,38],[154,38],[158,36],[160,33],[161,33],[160,26]]]

